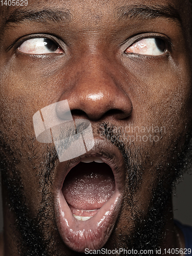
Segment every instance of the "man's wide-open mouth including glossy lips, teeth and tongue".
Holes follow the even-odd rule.
[[[59,176],[64,177],[57,185],[55,216],[60,236],[72,250],[102,248],[113,230],[124,191],[122,155],[113,150],[111,157],[93,150],[66,169],[61,163]]]

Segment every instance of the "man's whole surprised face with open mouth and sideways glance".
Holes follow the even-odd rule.
[[[191,123],[188,2],[31,0],[1,11],[2,176],[19,248],[161,246]],[[33,115],[60,102],[62,120],[63,100],[91,122],[95,146],[59,162]]]

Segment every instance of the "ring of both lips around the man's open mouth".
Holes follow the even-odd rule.
[[[115,191],[95,216],[86,222],[80,222],[73,217],[61,189],[70,170],[82,159],[88,157],[99,157],[110,165],[115,178]],[[84,252],[86,248],[99,249],[106,243],[121,209],[125,189],[124,170],[123,157],[118,148],[103,139],[95,139],[95,147],[86,154],[58,165],[54,196],[56,223],[61,238],[71,249]]]

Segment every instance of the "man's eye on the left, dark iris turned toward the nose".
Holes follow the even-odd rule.
[[[47,38],[28,39],[19,46],[18,50],[27,54],[63,53],[53,40]]]

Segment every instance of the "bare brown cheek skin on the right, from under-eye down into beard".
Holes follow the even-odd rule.
[[[141,211],[146,211],[151,201],[158,175],[162,180],[168,174],[174,175],[174,168],[170,166],[173,167],[174,158],[183,150],[186,134],[191,129],[191,72],[186,60],[180,63],[176,66],[167,61],[163,66],[156,61],[142,65],[134,62],[126,77],[133,113],[124,129],[126,135],[131,135],[131,142],[127,142],[130,151],[139,152],[135,154],[138,154],[135,161],[140,161],[142,179],[136,201],[142,202],[138,205]],[[129,222],[129,208],[125,207],[123,215]]]

